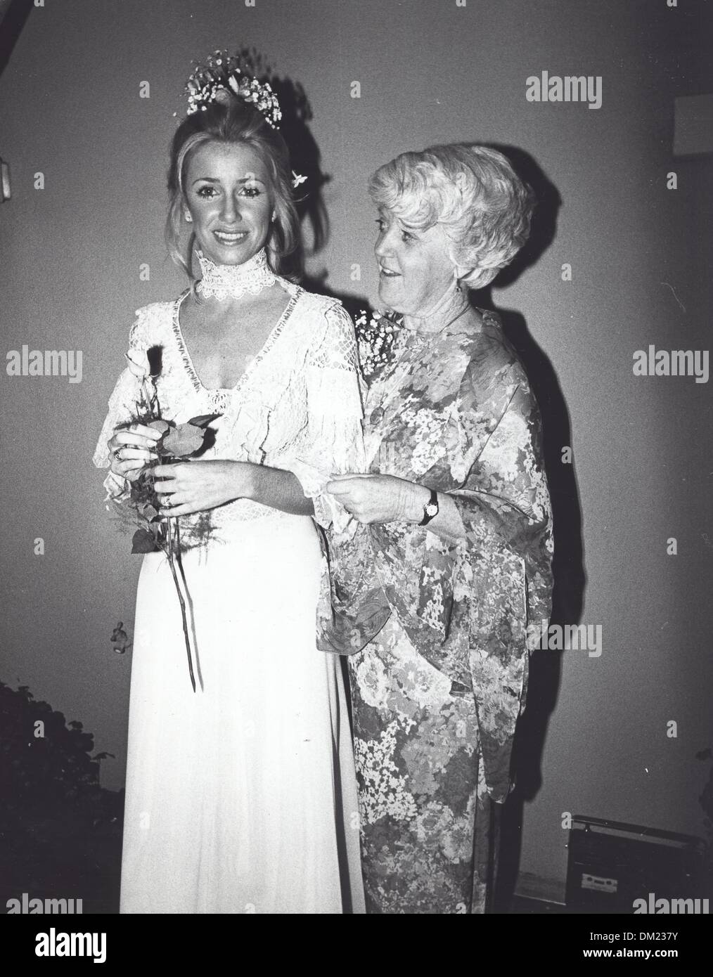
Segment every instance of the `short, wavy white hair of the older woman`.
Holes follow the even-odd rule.
[[[402,152],[379,166],[369,193],[409,227],[443,225],[454,266],[470,270],[460,278],[468,288],[483,288],[511,263],[535,207],[503,153],[476,143]]]

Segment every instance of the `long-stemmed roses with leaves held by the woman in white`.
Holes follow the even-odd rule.
[[[126,360],[130,372],[139,381],[139,395],[132,416],[122,427],[128,428],[133,424],[145,424],[159,431],[161,437],[156,442],[158,460],[148,464],[139,477],[131,482],[128,493],[124,492],[116,496],[113,501],[124,517],[131,518],[134,525],[138,523],[138,529],[132,538],[131,552],[162,552],[168,559],[181,607],[183,636],[186,642],[191,685],[193,691],[196,692],[196,677],[186,615],[186,599],[181,589],[182,582],[186,593],[188,593],[186,575],[181,563],[181,550],[186,550],[191,545],[200,544],[208,537],[210,516],[209,513],[201,513],[197,525],[182,535],[178,517],[171,517],[160,512],[161,503],[156,491],[156,467],[162,464],[188,462],[192,457],[197,457],[206,448],[211,447],[215,441],[215,431],[209,425],[220,415],[201,414],[200,417],[192,417],[182,424],[167,420],[161,416],[156,387],[156,380],[161,368],[161,348],[154,346],[146,353],[130,350],[126,354]]]

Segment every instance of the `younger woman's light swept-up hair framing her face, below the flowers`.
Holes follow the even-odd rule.
[[[181,247],[189,161],[196,149],[206,143],[243,144],[258,153],[272,179],[275,220],[265,245],[268,264],[276,275],[297,278],[302,254],[299,218],[292,199],[290,151],[280,132],[256,108],[227,91],[221,94],[224,97],[220,100],[188,115],[171,141],[165,227],[168,254],[195,286],[192,259],[196,235],[192,233],[188,246]],[[291,274],[286,259],[290,259]]]

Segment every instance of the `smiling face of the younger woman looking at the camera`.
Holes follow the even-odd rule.
[[[242,265],[267,242],[272,181],[255,149],[205,143],[189,158],[186,206],[203,255],[217,265]]]

